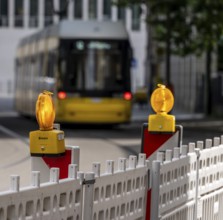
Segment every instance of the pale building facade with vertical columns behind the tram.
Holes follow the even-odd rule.
[[[62,19],[122,20],[133,48],[133,91],[144,84],[146,25],[140,6],[119,8],[112,0],[0,0],[0,96],[14,95],[14,58],[19,40]]]

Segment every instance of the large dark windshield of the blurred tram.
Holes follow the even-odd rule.
[[[129,55],[128,41],[63,40],[61,89],[88,95],[129,90]]]

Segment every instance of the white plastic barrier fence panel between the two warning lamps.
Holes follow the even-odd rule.
[[[99,164],[93,164],[94,185],[93,219],[145,219],[148,172],[145,154],[120,158],[114,173],[114,161],[107,161],[106,173],[100,176]]]

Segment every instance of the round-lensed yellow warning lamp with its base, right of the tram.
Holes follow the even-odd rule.
[[[172,92],[166,86],[158,84],[150,99],[154,115],[148,117],[148,130],[150,132],[175,132],[175,116],[167,114],[174,104]]]

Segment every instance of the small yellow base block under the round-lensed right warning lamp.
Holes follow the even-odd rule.
[[[150,132],[175,132],[175,116],[168,114],[149,115],[148,131]]]

